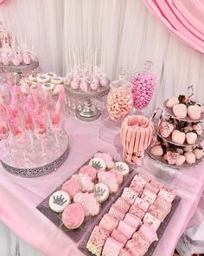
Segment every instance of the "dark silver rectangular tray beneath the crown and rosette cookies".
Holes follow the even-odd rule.
[[[91,161],[92,158],[93,158],[93,156],[90,159],[88,159],[82,166],[87,165],[89,163],[89,161]],[[80,168],[78,168],[74,174],[77,174],[79,172],[79,170],[80,170]],[[121,193],[121,191],[124,189],[124,187],[127,187],[127,184],[131,182],[131,180],[135,174],[136,174],[136,172],[131,169],[130,174],[126,178],[124,178],[123,183],[119,187],[118,194]],[[67,178],[67,180],[69,180],[72,175],[70,175]],[[65,181],[63,181],[63,183],[64,182]],[[57,190],[61,190],[62,184],[59,187],[56,187],[51,194],[53,194]],[[83,224],[79,228],[69,230],[69,229],[67,229],[66,226],[63,225],[63,223],[61,221],[61,213],[54,213],[54,211],[52,211],[49,208],[48,200],[49,200],[49,197],[51,196],[51,194],[49,194],[45,200],[42,200],[41,203],[36,208],[42,214],[44,214],[49,220],[51,220],[55,226],[58,226],[64,233],[66,233],[67,236],[69,236],[74,242],[79,242],[80,239],[83,238],[87,232],[89,232],[90,228],[92,228],[92,226],[95,226],[94,223],[100,220],[101,214],[104,215],[105,210],[112,206],[112,202],[115,201],[115,199],[118,196],[118,194],[111,194],[109,196],[108,200],[105,200],[105,202],[103,204],[101,204],[100,213],[98,215],[96,215],[94,217],[88,217],[88,218],[86,217]]]

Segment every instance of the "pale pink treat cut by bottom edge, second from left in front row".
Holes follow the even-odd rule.
[[[123,244],[118,243],[116,240],[113,240],[111,237],[109,237],[105,241],[105,246],[102,252],[102,256],[118,256],[120,249],[123,248]]]

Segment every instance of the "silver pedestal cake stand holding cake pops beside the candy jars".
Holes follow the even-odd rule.
[[[101,113],[99,108],[93,104],[92,99],[105,97],[109,93],[110,86],[109,84],[106,87],[100,86],[96,90],[89,88],[87,92],[83,92],[80,89],[72,89],[69,86],[67,86],[66,90],[68,96],[83,101],[82,108],[76,108],[75,110],[77,118],[81,121],[94,121],[99,118]]]

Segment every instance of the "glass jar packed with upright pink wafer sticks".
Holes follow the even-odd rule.
[[[152,140],[153,123],[143,115],[129,115],[120,130],[124,160],[131,164],[142,164],[144,150]]]

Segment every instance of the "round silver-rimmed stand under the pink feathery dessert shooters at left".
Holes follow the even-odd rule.
[[[35,151],[31,150],[30,144],[23,146],[24,152],[28,154],[29,161],[25,161],[19,145],[12,145],[11,154],[4,150],[1,154],[1,163],[5,171],[23,178],[34,178],[56,171],[69,154],[69,140],[67,133],[63,132],[59,138],[60,147],[57,148],[54,135],[50,135],[46,141],[47,155],[42,156],[40,141],[35,141]],[[3,148],[3,147],[2,147]]]

